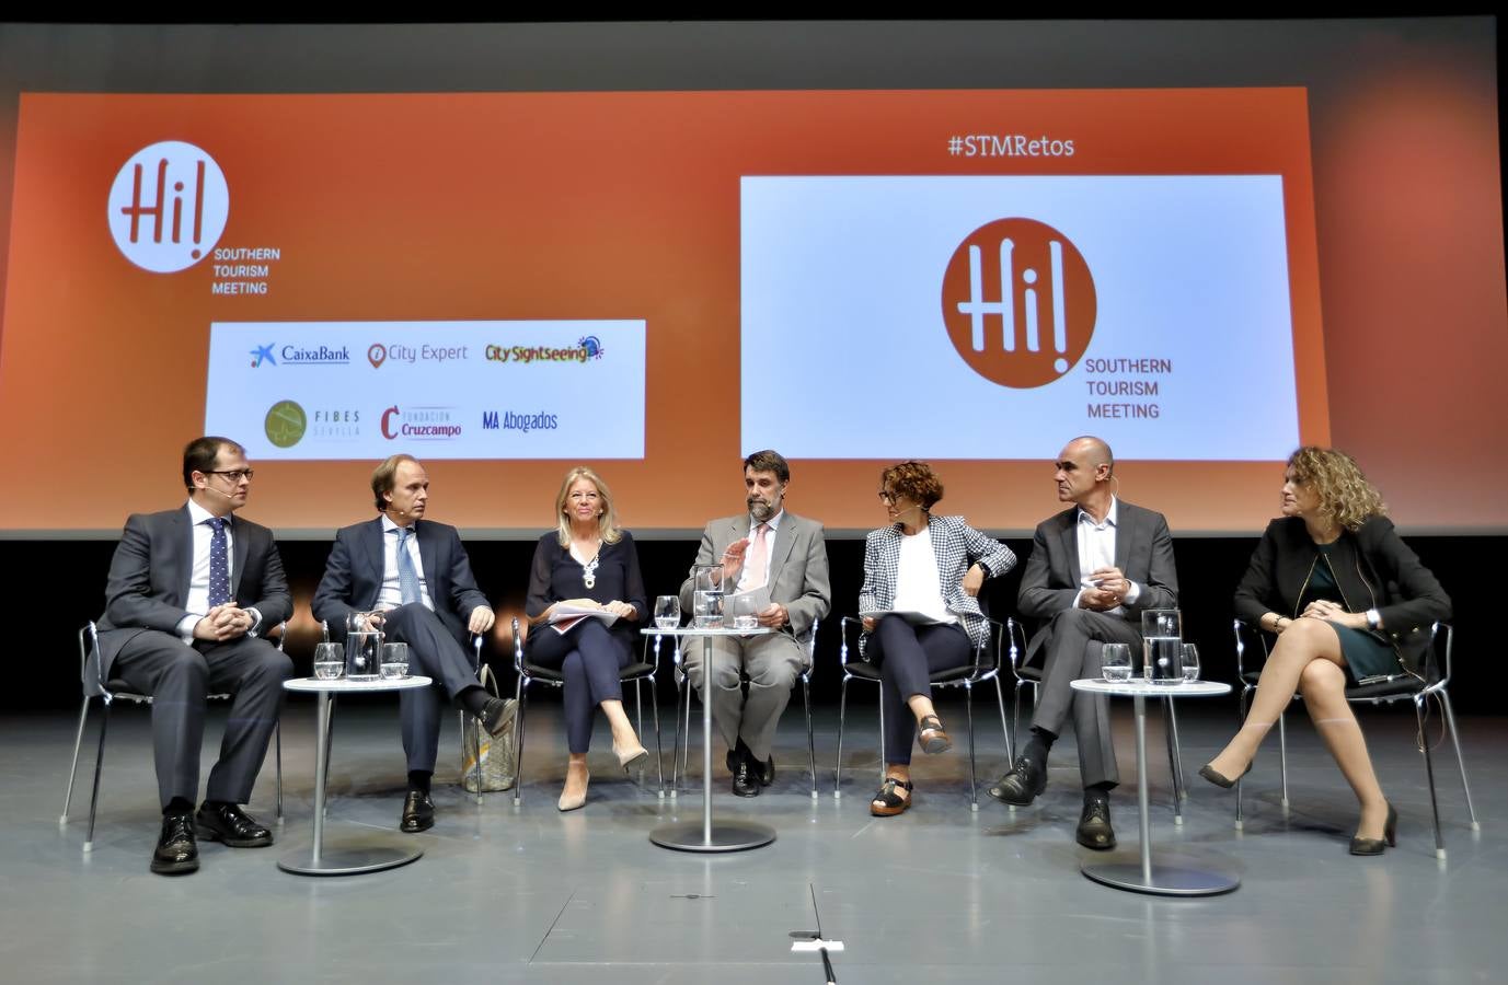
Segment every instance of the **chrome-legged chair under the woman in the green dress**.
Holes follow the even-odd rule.
[[[1235,658],[1237,658],[1237,673],[1241,676],[1241,721],[1246,721],[1246,709],[1252,691],[1256,690],[1256,682],[1261,678],[1261,667],[1247,669],[1246,666],[1246,651],[1252,648],[1259,649],[1262,661],[1267,661],[1270,652],[1270,634],[1246,624],[1240,619],[1234,622],[1235,633]],[[1425,735],[1427,712],[1425,706],[1431,699],[1439,700],[1440,711],[1445,717],[1445,730],[1451,733],[1451,746],[1455,749],[1455,765],[1461,771],[1461,791],[1466,794],[1466,813],[1470,818],[1470,828],[1473,831],[1481,830],[1481,824],[1476,821],[1476,809],[1472,806],[1472,786],[1466,779],[1466,758],[1461,755],[1461,733],[1455,724],[1455,709],[1451,708],[1451,694],[1446,690],[1451,684],[1451,657],[1455,643],[1455,627],[1448,622],[1436,622],[1430,627],[1430,648],[1424,654],[1424,663],[1419,667],[1419,673],[1398,673],[1389,676],[1384,681],[1377,681],[1372,684],[1356,684],[1345,688],[1345,700],[1353,705],[1392,705],[1399,700],[1411,700],[1415,706],[1415,720],[1418,721],[1418,743],[1419,752],[1424,755],[1424,771],[1425,779],[1430,782],[1430,812],[1434,821],[1434,854],[1445,858],[1445,834],[1440,830],[1440,800],[1434,788],[1434,758],[1431,756],[1430,738]],[[1294,694],[1294,699],[1301,699],[1300,694]],[[1277,740],[1279,740],[1279,770],[1282,776],[1282,806],[1288,807],[1288,735],[1283,729],[1283,715],[1277,717]],[[1241,828],[1246,825],[1246,818],[1241,804],[1241,788],[1243,780],[1237,780],[1235,785],[1235,825]]]

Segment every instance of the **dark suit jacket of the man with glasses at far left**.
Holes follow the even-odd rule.
[[[250,520],[231,518],[234,542],[231,598],[241,608],[262,614],[258,633],[267,633],[293,614],[293,596],[284,577],[273,532]],[[131,514],[110,560],[106,607],[100,616],[100,657],[106,672],[131,637],[143,630],[176,634],[188,614],[188,578],[193,577],[193,521],[188,506],[160,514]]]

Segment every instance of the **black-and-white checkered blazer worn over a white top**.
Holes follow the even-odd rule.
[[[958,614],[974,646],[983,646],[989,624],[979,610],[979,601],[964,593],[964,575],[979,563],[986,578],[995,578],[1016,566],[1016,556],[1000,541],[968,526],[962,517],[927,517],[932,551],[938,559],[942,601]],[[864,538],[864,587],[858,592],[860,611],[890,608],[896,601],[896,578],[900,569],[900,524],[870,530]]]

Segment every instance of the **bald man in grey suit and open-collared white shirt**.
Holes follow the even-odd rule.
[[[1098,643],[1140,646],[1143,610],[1178,605],[1173,538],[1163,514],[1116,499],[1116,459],[1099,438],[1074,438],[1054,467],[1057,499],[1074,506],[1038,524],[1018,596],[1022,616],[1047,621],[1027,646],[1027,663],[1045,655],[1042,696],[1031,738],[989,792],[1030,804],[1047,786],[1048,750],[1072,712],[1084,785],[1078,843],[1108,849],[1116,846],[1110,791],[1120,779],[1108,699],[1069,684],[1099,676]]]

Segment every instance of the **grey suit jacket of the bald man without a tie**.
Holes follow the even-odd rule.
[[[1125,619],[1142,628],[1146,608],[1178,607],[1178,569],[1173,566],[1173,535],[1163,514],[1116,500],[1116,568],[1142,586],[1136,602],[1125,605]],[[1078,598],[1078,506],[1038,524],[1031,556],[1021,575],[1016,605],[1028,619],[1048,621]],[[1047,646],[1051,630],[1031,637],[1027,660]]]

